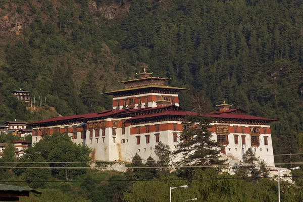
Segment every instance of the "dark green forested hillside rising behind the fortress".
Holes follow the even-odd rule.
[[[123,87],[118,81],[134,78],[144,62],[155,76],[172,78],[169,85],[203,97],[206,111],[225,98],[251,115],[278,119],[275,154],[298,153],[302,1],[0,0],[0,6],[1,122],[41,118],[10,94],[19,88],[45,96],[62,115],[111,108],[111,97],[101,93]],[[190,96],[180,97],[191,108]]]

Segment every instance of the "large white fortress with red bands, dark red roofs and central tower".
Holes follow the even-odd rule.
[[[165,86],[167,78],[137,74],[138,79],[123,81],[124,89],[113,95],[113,109],[99,113],[52,118],[29,123],[33,145],[45,135],[67,133],[73,142],[92,149],[93,161],[130,162],[137,153],[142,159],[155,158],[155,145],[163,142],[176,149],[186,115],[195,113],[179,107],[178,92],[185,88]],[[270,123],[274,119],[248,116],[231,105],[218,105],[210,131],[221,145],[222,156],[242,160],[248,148],[269,166],[274,166]]]

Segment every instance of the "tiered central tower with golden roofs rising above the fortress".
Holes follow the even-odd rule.
[[[105,92],[114,96],[113,109],[160,107],[157,105],[160,99],[169,102],[169,105],[179,106],[178,92],[188,89],[165,86],[164,83],[169,78],[152,77],[151,74],[153,73],[147,73],[144,67],[142,73],[136,74],[139,78],[119,81],[125,84],[124,89]]]

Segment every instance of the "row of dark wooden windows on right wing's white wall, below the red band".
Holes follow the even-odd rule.
[[[234,143],[239,144],[238,142],[238,136],[239,135],[234,135]],[[241,142],[242,144],[245,144],[245,135],[241,135]],[[228,135],[224,134],[217,134],[217,141],[219,144],[224,144],[227,145],[228,142]],[[250,141],[251,141],[251,146],[259,146],[260,145],[260,137],[259,135],[250,135]],[[264,145],[268,145],[268,136],[264,136]]]

